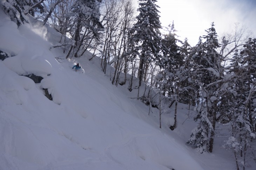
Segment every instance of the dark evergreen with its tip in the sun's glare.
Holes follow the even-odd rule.
[[[181,96],[185,96],[189,90],[191,90],[190,83],[188,82],[190,76],[189,65],[189,55],[188,51],[190,46],[186,41],[186,47],[181,47],[177,45],[181,42],[177,39],[176,30],[174,28],[174,22],[169,25],[168,33],[164,34],[162,40],[163,45],[163,59],[159,63],[160,67],[164,70],[160,72],[161,76],[158,75],[158,84],[161,94],[165,97],[170,98],[171,104],[169,107],[175,103],[174,110],[174,124],[170,126],[171,130],[177,127],[177,104],[181,99]],[[181,54],[181,51],[183,54]],[[160,79],[159,79],[160,78]]]

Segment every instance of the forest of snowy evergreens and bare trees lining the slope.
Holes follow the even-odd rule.
[[[198,123],[187,143],[200,153],[214,150],[216,124],[230,130],[225,147],[238,158],[256,161],[256,38],[252,32],[234,23],[234,30],[218,36],[214,22],[205,35],[191,46],[180,40],[174,22],[162,27],[156,0],[5,0],[2,10],[18,27],[29,24],[32,16],[42,25],[61,34],[58,45],[66,59],[82,57],[86,51],[101,59],[102,72],[108,65],[114,86],[129,84],[138,88],[145,83],[149,90],[138,99],[149,105],[168,100],[195,106]],[[57,56],[58,57],[58,56]],[[91,59],[92,59],[91,58]],[[124,75],[124,77],[123,77]],[[132,75],[132,76],[128,76]],[[146,91],[146,90],[145,90]],[[153,101],[152,93],[159,94]],[[176,125],[175,110],[174,124]],[[245,169],[245,165],[243,165]]]

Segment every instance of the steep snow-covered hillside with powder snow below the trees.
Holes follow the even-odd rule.
[[[0,170],[236,167],[223,143],[212,154],[185,144],[195,127],[188,106],[179,104],[176,130],[160,129],[158,110],[148,115],[148,106],[133,98],[136,90],[113,86],[96,57],[66,60],[60,49],[50,50],[60,38],[52,28],[34,23],[18,29],[0,11],[0,37],[0,50],[13,56],[0,60]],[[70,68],[77,62],[85,73]],[[22,76],[32,73],[43,77],[41,83]],[[168,122],[171,115],[163,117]]]

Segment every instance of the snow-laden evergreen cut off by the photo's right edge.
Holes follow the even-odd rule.
[[[240,53],[238,51],[231,60],[229,74],[233,75],[230,91],[232,95],[227,103],[226,125],[230,127],[230,137],[224,145],[233,150],[237,170],[245,169],[247,157],[255,158],[256,123],[256,39],[249,38]],[[251,154],[251,155],[250,155]],[[242,163],[241,163],[242,162]]]

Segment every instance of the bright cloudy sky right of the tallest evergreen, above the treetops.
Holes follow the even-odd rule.
[[[157,0],[160,21],[167,26],[174,21],[176,34],[196,45],[199,36],[214,22],[218,35],[245,25],[256,35],[256,0]]]

